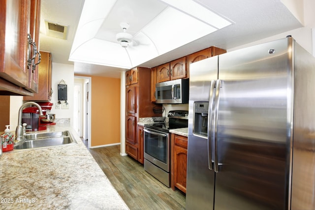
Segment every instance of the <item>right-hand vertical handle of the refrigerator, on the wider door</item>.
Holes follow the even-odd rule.
[[[219,172],[219,159],[218,159],[218,121],[219,121],[219,101],[220,101],[220,87],[221,80],[217,80],[216,87],[216,100],[215,100],[215,110],[214,110],[214,121],[213,121],[213,141],[214,141],[214,170]]]

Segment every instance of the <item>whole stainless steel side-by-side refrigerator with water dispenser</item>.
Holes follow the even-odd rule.
[[[189,72],[187,210],[315,210],[315,58],[287,37]]]

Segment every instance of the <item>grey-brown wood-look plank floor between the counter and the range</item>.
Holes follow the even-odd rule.
[[[120,145],[90,152],[130,210],[185,210],[185,195],[163,185],[133,158],[120,156]]]

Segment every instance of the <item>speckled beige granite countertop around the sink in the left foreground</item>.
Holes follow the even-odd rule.
[[[78,144],[45,149],[3,152],[0,156],[1,209],[127,210],[113,185],[79,136]]]

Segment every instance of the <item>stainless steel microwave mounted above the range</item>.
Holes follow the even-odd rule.
[[[156,84],[156,103],[187,104],[189,79],[177,79]]]

